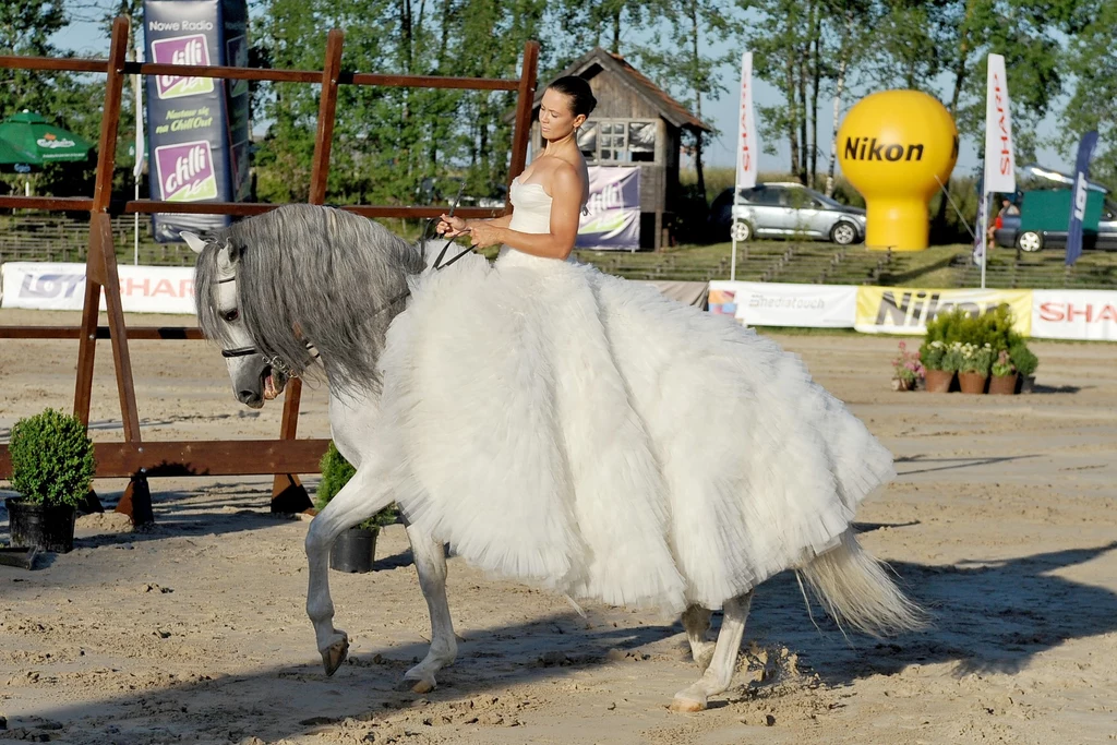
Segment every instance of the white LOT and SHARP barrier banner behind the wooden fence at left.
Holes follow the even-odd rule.
[[[193,315],[194,270],[190,267],[121,265],[121,305],[126,313]],[[0,307],[38,311],[80,311],[85,300],[85,265],[9,261],[0,266],[3,294]],[[105,295],[101,295],[105,309]]]

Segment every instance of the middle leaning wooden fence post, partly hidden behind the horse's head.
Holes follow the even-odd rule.
[[[337,79],[342,69],[342,45],[345,34],[333,29],[326,37],[326,60],[322,68],[322,98],[318,102],[318,131],[314,139],[314,163],[311,166],[311,204],[326,201],[330,175],[330,150],[334,141],[337,113]],[[303,399],[303,381],[292,378],[284,395],[279,439],[294,440],[298,430],[298,407]],[[271,483],[271,512],[300,513],[314,507],[296,474],[276,474]]]

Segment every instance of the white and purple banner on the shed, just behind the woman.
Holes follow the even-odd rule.
[[[577,228],[579,248],[640,248],[640,169],[591,165],[590,201]]]

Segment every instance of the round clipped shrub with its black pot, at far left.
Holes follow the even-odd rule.
[[[11,545],[65,554],[74,550],[77,506],[93,481],[93,442],[77,417],[47,409],[11,428],[11,488],[6,500]]]

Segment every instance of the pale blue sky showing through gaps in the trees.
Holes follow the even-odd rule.
[[[109,7],[111,0],[94,0],[98,6]],[[92,17],[95,11],[87,11]],[[83,20],[76,20],[69,27],[59,31],[54,37],[54,42],[66,49],[75,49],[79,52],[79,56],[88,57],[105,57],[108,54],[108,37],[107,31],[103,28],[103,23],[99,22],[84,22]],[[712,124],[715,128],[719,130],[719,135],[714,139],[710,145],[705,152],[705,163],[712,166],[733,166],[734,161],[734,141],[737,134],[737,106],[738,106],[738,86],[739,86],[739,58],[741,52],[744,51],[739,48],[734,48],[728,41],[723,41],[720,44],[710,45],[710,54],[713,55],[724,55],[728,51],[733,51],[737,61],[727,65],[722,70],[722,82],[728,92],[723,94],[718,99],[712,102],[704,102],[703,104],[703,118]],[[941,78],[942,90],[946,90],[949,85],[948,76],[943,76]],[[757,105],[773,105],[781,102],[781,96],[779,92],[764,83],[763,80],[754,82],[754,90],[756,96]],[[1010,99],[1012,92],[1009,92]],[[857,101],[850,98],[848,95],[842,102],[842,113],[849,111],[849,108],[856,104]],[[833,127],[833,101],[820,98],[819,106],[819,142],[820,147],[822,147],[822,153],[819,156],[819,171],[823,172],[829,165],[829,152],[830,152],[830,133]],[[1049,114],[1047,118],[1039,125],[1040,141],[1050,139],[1057,128],[1058,124],[1056,122],[1056,116]],[[961,143],[958,152],[958,162],[954,168],[955,175],[968,175],[976,172],[978,165],[978,145],[977,143],[968,140],[963,140]],[[762,143],[763,147],[763,143]],[[1038,151],[1038,156],[1040,163],[1047,168],[1052,168],[1061,171],[1070,171],[1073,169],[1073,153],[1069,156],[1066,153],[1060,153],[1047,147],[1040,147]],[[685,161],[686,162],[686,161]],[[776,143],[776,154],[770,155],[767,153],[762,153],[760,157],[760,172],[786,172],[790,165],[790,147],[785,140],[781,140]],[[840,171],[840,169],[838,169]]]

